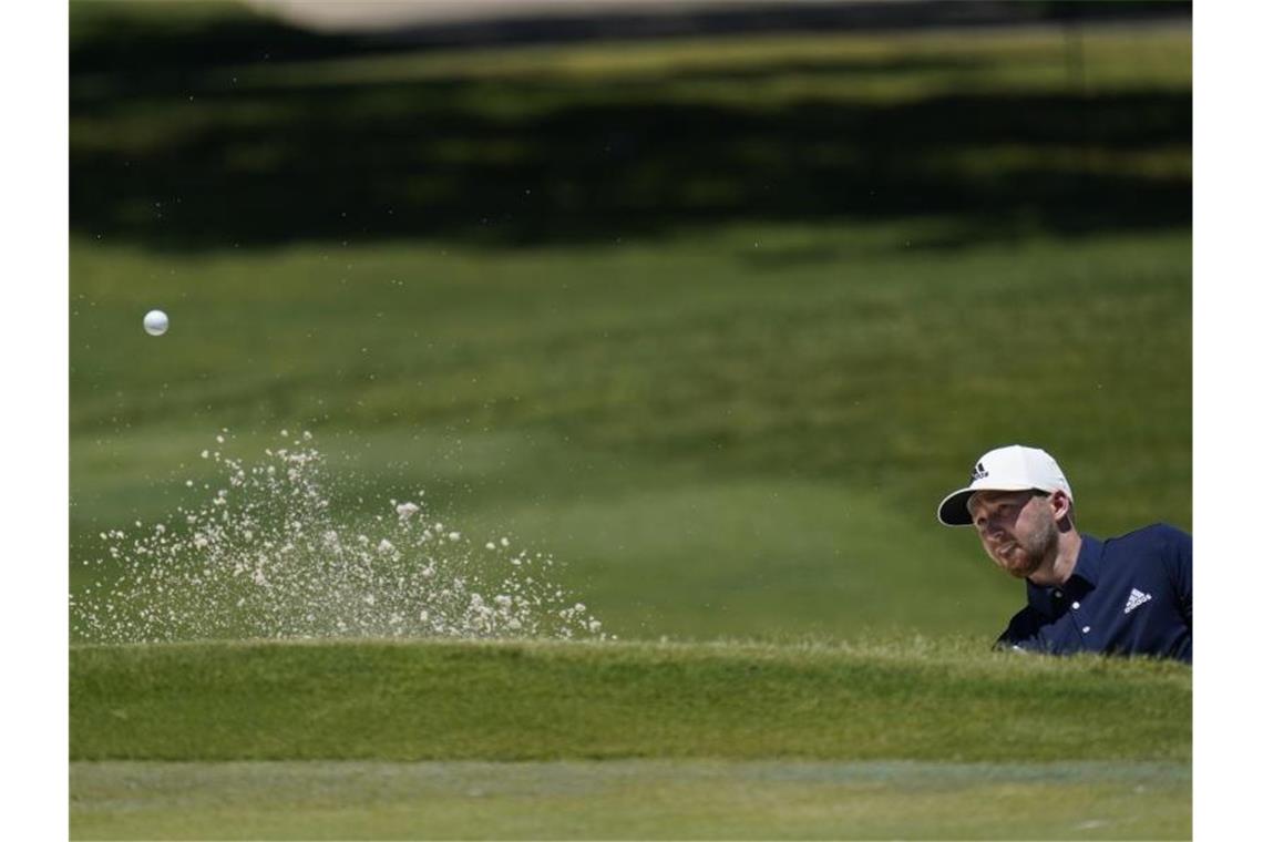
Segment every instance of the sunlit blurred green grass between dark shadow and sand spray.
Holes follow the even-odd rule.
[[[997,632],[1021,588],[933,507],[1000,442],[1062,460],[1089,531],[1187,528],[1187,235],[917,256],[901,234],[80,244],[75,557],[189,500],[220,427],[246,456],[313,429],[347,523],[419,487],[469,531],[553,553],[623,636]],[[796,254],[816,256],[763,263]],[[153,302],[162,340],[136,327]]]

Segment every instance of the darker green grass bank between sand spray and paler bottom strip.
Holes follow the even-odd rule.
[[[1190,759],[1186,667],[971,645],[77,646],[71,757]]]

